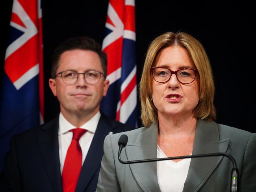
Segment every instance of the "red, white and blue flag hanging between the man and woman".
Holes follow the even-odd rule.
[[[102,50],[108,56],[110,87],[100,107],[109,117],[137,127],[135,0],[109,1],[106,31]]]

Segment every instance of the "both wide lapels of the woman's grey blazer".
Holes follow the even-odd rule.
[[[157,154],[158,123],[143,129],[134,143],[128,143],[125,151],[128,161],[153,159]],[[229,139],[219,140],[215,122],[197,121],[193,155],[225,153]],[[183,192],[198,191],[220,163],[223,156],[192,158]],[[143,191],[161,191],[158,185],[156,162],[129,164]]]

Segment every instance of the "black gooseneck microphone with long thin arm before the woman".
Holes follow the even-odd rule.
[[[122,148],[126,146],[128,142],[127,135],[121,135],[118,140],[119,150],[118,150],[118,160],[122,164],[133,164],[133,163],[141,163],[141,162],[153,162],[153,161],[165,161],[165,160],[173,160],[173,159],[188,159],[188,158],[197,158],[197,157],[213,157],[213,156],[225,156],[228,157],[232,161],[233,168],[231,171],[231,192],[237,192],[237,183],[238,183],[238,169],[236,168],[236,161],[234,157],[226,153],[206,153],[206,154],[198,154],[198,155],[186,155],[186,156],[178,156],[178,157],[165,157],[158,159],[143,159],[143,160],[135,160],[135,161],[122,161],[121,159],[121,151]]]

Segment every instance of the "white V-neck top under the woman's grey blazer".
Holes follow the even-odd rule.
[[[157,146],[157,158],[167,157]],[[157,161],[158,184],[161,192],[182,192],[191,159]]]

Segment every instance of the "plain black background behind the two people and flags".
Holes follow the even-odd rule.
[[[66,39],[81,35],[88,35],[102,43],[108,0],[42,1],[45,122],[48,122],[59,113],[58,101],[48,87],[53,50]],[[4,16],[1,17],[0,74],[4,66],[11,6],[12,0],[9,0],[1,9]],[[188,32],[203,44],[213,68],[217,122],[255,132],[253,7],[246,1],[136,0],[137,83],[148,44],[165,31]],[[138,125],[141,126],[141,123]]]

